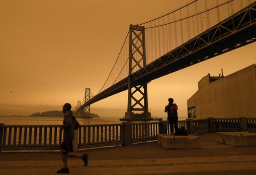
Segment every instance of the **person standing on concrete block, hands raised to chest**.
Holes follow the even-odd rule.
[[[164,112],[167,112],[167,120],[170,124],[170,132],[174,133],[174,128],[178,129],[178,106],[174,103],[173,98],[168,99],[168,105],[165,106]]]

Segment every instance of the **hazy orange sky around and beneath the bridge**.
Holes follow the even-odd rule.
[[[189,2],[1,1],[0,103],[60,105],[68,101],[76,105],[86,87],[94,94],[102,87],[130,23],[153,19]],[[221,68],[228,75],[256,63],[255,46],[249,44],[151,81],[151,111],[163,108],[168,97],[186,111],[187,99],[203,76],[218,76]],[[92,107],[126,108],[127,91]]]

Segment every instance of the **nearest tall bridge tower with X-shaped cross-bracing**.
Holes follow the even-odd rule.
[[[145,28],[130,25],[129,29],[129,75],[128,75],[128,106],[126,120],[150,120],[148,112],[147,82],[132,84],[133,72],[146,66]],[[140,113],[134,113],[139,112]]]

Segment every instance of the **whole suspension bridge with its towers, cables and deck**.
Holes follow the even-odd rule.
[[[158,18],[130,25],[100,91],[84,92],[77,116],[128,90],[126,120],[150,120],[147,83],[256,41],[255,0],[194,0]]]

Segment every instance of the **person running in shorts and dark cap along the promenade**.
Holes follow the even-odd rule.
[[[57,173],[68,173],[67,157],[81,158],[84,166],[88,164],[88,154],[77,154],[73,152],[74,130],[79,128],[79,123],[71,112],[71,104],[65,103],[62,109],[64,113],[64,120],[62,129],[64,130],[63,142],[60,146],[61,159],[63,161],[63,168],[57,170]]]

